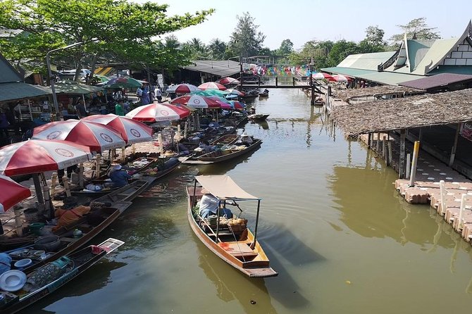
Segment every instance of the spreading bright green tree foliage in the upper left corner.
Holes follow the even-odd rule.
[[[107,53],[140,58],[125,60],[131,63],[139,60],[158,63],[153,56],[148,56],[156,54],[151,37],[201,23],[213,12],[167,16],[166,9],[167,5],[135,4],[125,0],[3,0],[0,1],[0,26],[25,30],[29,35],[8,43],[3,40],[0,45],[2,53],[11,61],[44,61],[46,51],[84,42],[73,51],[63,53],[68,56],[70,66],[77,69],[87,56],[96,60]],[[93,39],[97,42],[92,42]],[[132,53],[132,49],[141,51]],[[170,61],[161,64],[170,64]]]

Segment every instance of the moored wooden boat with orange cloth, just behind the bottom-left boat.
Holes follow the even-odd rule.
[[[147,180],[138,180],[125,187],[120,187],[120,189],[113,191],[113,194],[107,194],[100,199],[96,199],[94,202],[110,202],[111,206],[109,208],[99,208],[91,211],[70,225],[61,227],[61,229],[47,235],[46,237],[51,237],[51,241],[54,241],[54,246],[51,244],[50,249],[44,250],[38,248],[37,244],[32,244],[32,242],[41,238],[35,237],[30,240],[29,246],[12,250],[8,253],[14,261],[23,258],[31,258],[33,263],[24,270],[28,273],[45,263],[56,260],[59,256],[75,251],[87,244],[87,242],[97,236],[97,234],[108,227],[108,225],[111,225],[121,213],[132,205],[132,199],[135,199],[136,196],[147,189],[149,184],[154,182],[154,180],[156,179],[147,178]],[[80,237],[74,237],[74,230],[80,230],[82,235]],[[54,237],[57,237],[57,241],[55,241]]]

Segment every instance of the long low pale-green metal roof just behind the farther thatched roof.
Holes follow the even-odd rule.
[[[378,82],[380,84],[398,85],[399,82],[406,82],[408,80],[414,80],[420,76],[406,74],[406,73],[392,73],[392,72],[378,72],[373,70],[359,70],[352,68],[323,68],[325,72],[337,73],[342,75],[348,75],[351,77],[359,77],[364,80],[372,82]]]

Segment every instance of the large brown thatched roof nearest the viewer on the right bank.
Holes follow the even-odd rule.
[[[472,120],[472,89],[336,106],[332,117],[348,137],[464,123]]]

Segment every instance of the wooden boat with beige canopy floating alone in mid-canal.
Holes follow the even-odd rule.
[[[197,187],[197,184],[201,187]],[[232,204],[242,212],[239,201],[256,201],[257,213],[254,234],[247,227],[247,220],[242,218],[219,219],[202,218],[197,202],[203,196],[202,189],[216,196],[221,206]],[[219,258],[249,277],[274,277],[278,275],[269,266],[269,259],[261,244],[257,241],[257,227],[261,199],[241,189],[227,175],[199,175],[195,177],[194,187],[187,187],[188,219],[197,237]],[[218,208],[217,217],[220,215]]]

